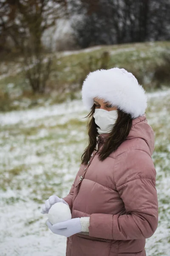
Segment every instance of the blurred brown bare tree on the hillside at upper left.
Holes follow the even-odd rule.
[[[43,57],[42,34],[66,14],[66,0],[1,0],[1,26],[23,55],[34,92],[44,93],[52,60]]]

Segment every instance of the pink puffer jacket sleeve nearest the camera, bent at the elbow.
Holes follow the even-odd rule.
[[[131,150],[116,157],[116,190],[126,214],[91,214],[89,235],[115,240],[149,238],[158,226],[156,171],[149,154]]]

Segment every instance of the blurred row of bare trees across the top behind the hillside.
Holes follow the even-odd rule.
[[[170,0],[0,0],[0,52],[38,52],[42,34],[70,19],[80,48],[170,40]],[[52,35],[51,35],[52,36]]]

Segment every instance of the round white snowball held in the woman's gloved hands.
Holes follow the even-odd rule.
[[[51,206],[48,212],[48,219],[51,224],[56,224],[62,221],[68,221],[71,219],[71,211],[67,204],[56,203]]]

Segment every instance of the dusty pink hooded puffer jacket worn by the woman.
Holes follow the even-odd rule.
[[[99,135],[99,149],[108,134]],[[81,165],[69,194],[72,218],[90,216],[89,234],[67,238],[66,256],[145,256],[158,225],[154,133],[146,115],[103,162],[98,151]],[[82,178],[80,178],[82,176]]]

